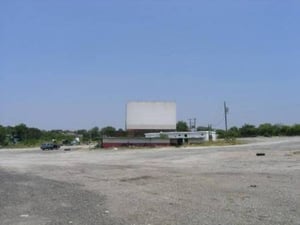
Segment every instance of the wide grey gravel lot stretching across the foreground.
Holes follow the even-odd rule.
[[[2,149],[1,225],[300,225],[300,137],[247,142],[117,151]]]

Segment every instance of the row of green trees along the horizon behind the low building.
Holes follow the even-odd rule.
[[[188,131],[189,127],[186,122],[179,121],[176,126],[177,131]],[[198,131],[215,130],[211,127],[197,127]],[[218,138],[225,137],[256,137],[256,136],[297,136],[300,135],[300,124],[282,125],[264,123],[259,126],[245,124],[242,127],[231,127],[227,132],[217,129]],[[40,130],[34,127],[27,127],[25,124],[16,126],[0,125],[0,147],[10,145],[38,145],[43,142],[51,142],[53,140],[58,143],[70,143],[76,137],[80,138],[82,143],[90,141],[98,141],[101,137],[126,137],[127,131],[116,129],[112,126],[103,128],[94,127],[86,130]]]

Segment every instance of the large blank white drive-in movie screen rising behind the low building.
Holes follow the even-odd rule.
[[[129,102],[126,113],[126,129],[176,129],[175,102]]]

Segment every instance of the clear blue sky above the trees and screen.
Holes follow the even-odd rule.
[[[1,0],[0,124],[124,128],[131,100],[224,127],[300,122],[300,2]]]

